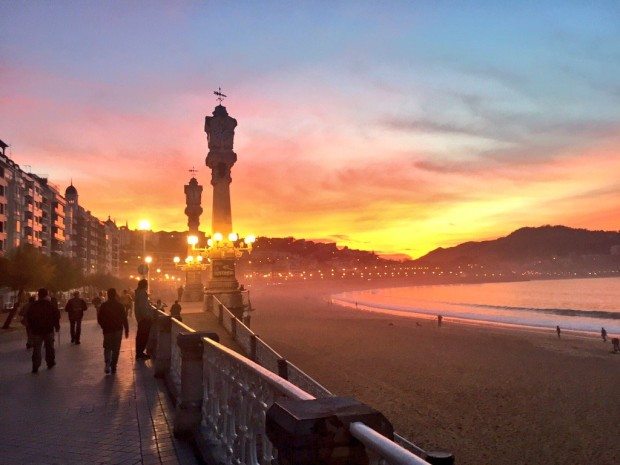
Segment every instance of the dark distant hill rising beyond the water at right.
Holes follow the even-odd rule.
[[[620,246],[620,232],[547,225],[517,229],[499,239],[440,247],[414,262],[435,266],[523,263],[584,255],[609,255],[613,246]]]

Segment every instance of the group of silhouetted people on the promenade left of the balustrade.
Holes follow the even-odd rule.
[[[132,310],[138,323],[136,332],[136,359],[149,358],[147,344],[156,310],[162,310],[165,304],[158,301],[155,306],[149,300],[148,281],[142,279],[138,282],[135,296],[128,290],[119,295],[114,288],[110,288],[107,294],[98,293],[91,301],[97,312],[97,322],[103,332],[103,353],[105,373],[116,373],[116,366],[120,354],[123,334],[125,339],[129,337],[129,321]],[[74,292],[64,307],[69,317],[71,343],[80,344],[82,333],[82,319],[88,309],[86,301],[80,297],[79,292]],[[171,316],[181,319],[181,305],[175,301],[170,309]],[[31,297],[21,310],[22,323],[26,327],[28,342],[27,348],[32,348],[32,372],[37,373],[42,362],[42,348],[45,347],[45,362],[47,368],[56,365],[56,353],[54,349],[55,333],[60,332],[60,308],[58,301],[51,296],[47,289],[39,289],[37,298]]]

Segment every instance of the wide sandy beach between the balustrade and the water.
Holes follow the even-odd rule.
[[[600,339],[346,309],[398,283],[251,285],[252,328],[337,395],[459,464],[620,463],[620,355]],[[409,283],[411,285],[411,283]]]

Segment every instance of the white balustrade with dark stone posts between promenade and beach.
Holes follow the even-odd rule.
[[[249,358],[163,312],[154,357],[155,375],[165,378],[175,402],[175,435],[193,439],[208,463],[454,463],[450,454],[429,455],[394,435],[380,412],[333,396],[210,301],[208,310]]]

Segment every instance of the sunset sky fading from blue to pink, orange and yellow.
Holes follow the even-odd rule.
[[[418,257],[620,229],[620,2],[2,2],[0,139],[101,218],[184,229],[204,117],[241,234]],[[519,6],[515,6],[518,4]]]

